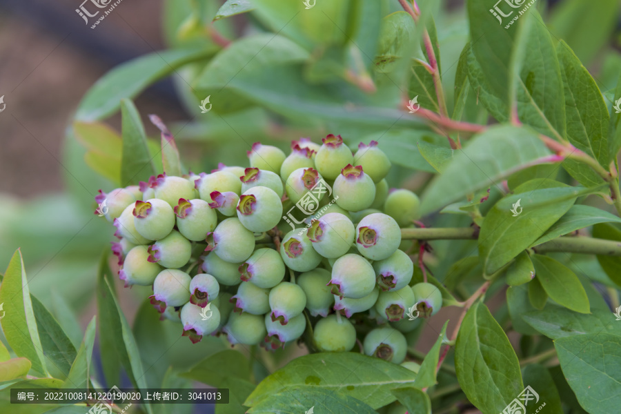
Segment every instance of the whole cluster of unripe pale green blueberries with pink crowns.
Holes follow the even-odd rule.
[[[389,193],[377,142],[353,154],[340,135],[300,139],[288,156],[256,143],[248,157],[250,168],[100,190],[119,277],[152,286],[151,303],[192,342],[224,333],[276,349],[306,331],[319,351],[351,351],[366,333],[366,354],[403,362],[413,310],[434,315],[442,295],[413,284],[400,227],[418,219],[419,200]]]

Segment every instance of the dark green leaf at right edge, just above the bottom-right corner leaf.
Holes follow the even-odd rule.
[[[587,333],[609,333],[621,337],[621,324],[611,312],[593,311],[577,313],[559,306],[549,306],[544,311],[526,313],[524,320],[537,331],[551,339]]]

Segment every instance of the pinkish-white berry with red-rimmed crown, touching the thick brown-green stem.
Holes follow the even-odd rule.
[[[391,257],[400,244],[401,228],[389,215],[368,215],[356,227],[356,247],[368,259],[382,260]]]

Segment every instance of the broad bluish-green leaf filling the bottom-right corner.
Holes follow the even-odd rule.
[[[621,399],[619,337],[589,333],[556,339],[554,346],[569,386],[591,414],[615,413]]]

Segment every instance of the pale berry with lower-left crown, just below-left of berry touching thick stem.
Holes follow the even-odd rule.
[[[333,295],[338,297],[365,297],[375,288],[373,266],[359,255],[339,257],[332,267],[332,279],[328,286],[331,286]]]

